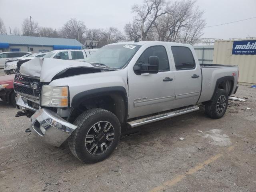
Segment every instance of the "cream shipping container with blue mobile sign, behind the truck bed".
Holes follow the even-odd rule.
[[[216,41],[213,64],[239,66],[239,82],[256,84],[256,39]]]

